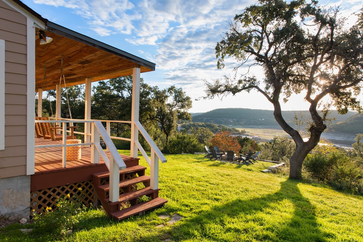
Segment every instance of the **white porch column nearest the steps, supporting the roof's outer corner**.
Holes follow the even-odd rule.
[[[139,140],[139,130],[135,126],[135,121],[139,121],[140,104],[140,67],[132,70],[132,106],[131,106],[131,157],[137,158],[138,148],[135,140]]]

